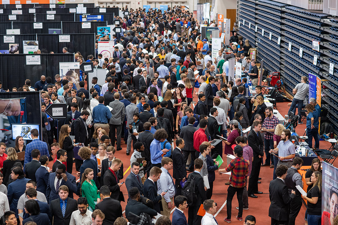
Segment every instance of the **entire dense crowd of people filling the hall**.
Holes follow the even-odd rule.
[[[234,31],[230,44],[223,44],[212,58],[211,39],[201,37],[198,21],[183,8],[169,7],[164,13],[130,9],[129,16],[117,19],[123,32],[112,35],[114,57],[103,59],[97,54],[87,60],[95,68],[107,70],[104,85],[98,84],[97,77],[89,84],[86,73],[69,71],[64,77],[55,75],[54,83],[51,77],[41,76],[34,86],[26,80],[23,87],[12,89],[40,91],[42,141],[39,131],[33,129],[33,140],[27,145],[21,136],[16,138],[15,148],[6,149],[0,143],[0,191],[4,193],[0,193],[0,216],[5,224],[151,225],[159,213],[163,216],[155,224],[216,225],[217,204],[212,195],[217,171],[231,172],[224,221],[231,223],[236,193],[235,218],[253,225],[254,216],[242,216],[249,209],[248,197],[263,193],[258,189],[261,166],[273,168],[271,224],[295,224],[302,204],[295,186],[303,187],[297,172],[303,160],[295,157],[290,131],[264,103],[256,61],[248,57],[249,41]],[[204,24],[216,26],[215,22]],[[99,39],[110,37],[97,36]],[[249,80],[228,81],[230,57],[225,48],[233,50]],[[75,60],[84,62],[79,52]],[[255,86],[254,96],[248,83]],[[307,78],[302,77],[295,87],[290,111],[298,105],[299,113],[303,107],[306,83]],[[55,120],[45,110],[60,103],[60,96],[67,104],[67,118]],[[318,148],[320,107],[313,99],[305,107],[309,145],[312,147],[313,137]],[[250,126],[249,133],[243,132]],[[214,144],[215,139],[220,141]],[[130,155],[130,162],[115,157],[121,150]],[[18,160],[21,151],[25,151],[24,161]],[[231,158],[228,165],[219,169],[216,158],[227,156]],[[130,173],[120,182],[123,168],[129,165]],[[305,219],[309,225],[320,224],[318,159],[313,160],[305,178],[309,185],[308,195],[303,196],[308,201]],[[127,199],[121,191],[124,183]],[[127,202],[125,217],[121,201]],[[201,204],[206,211],[203,217],[197,215]]]

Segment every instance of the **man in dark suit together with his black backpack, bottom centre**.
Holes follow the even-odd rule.
[[[201,224],[202,217],[197,212],[204,200],[207,200],[207,189],[203,184],[200,172],[203,167],[202,159],[195,159],[195,171],[190,173],[182,189],[182,195],[187,197],[188,203],[188,225]]]

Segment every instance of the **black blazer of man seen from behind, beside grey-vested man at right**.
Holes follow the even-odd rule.
[[[295,198],[295,195],[289,195],[288,187],[283,180],[276,178],[270,181],[269,197],[271,201],[269,217],[278,221],[289,220],[288,205]]]

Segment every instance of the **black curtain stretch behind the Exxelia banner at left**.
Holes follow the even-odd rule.
[[[95,33],[92,34],[69,34],[70,42],[59,42],[59,35],[57,34],[20,34],[14,35],[16,44],[19,44],[19,53],[23,53],[24,40],[38,40],[39,49],[41,53],[63,53],[62,48],[67,47],[68,52],[79,51],[83,57],[94,55],[95,51]],[[0,40],[3,40],[0,35]],[[38,38],[38,39],[37,39]],[[83,44],[86,43],[86,44]],[[0,42],[0,50],[9,49],[9,43]]]

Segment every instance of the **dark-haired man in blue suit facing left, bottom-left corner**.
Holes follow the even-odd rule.
[[[18,201],[22,194],[26,191],[26,184],[29,179],[25,178],[21,166],[16,166],[12,169],[11,178],[14,180],[8,185],[7,197],[9,203],[9,209],[16,212],[18,216]]]

